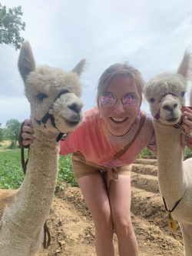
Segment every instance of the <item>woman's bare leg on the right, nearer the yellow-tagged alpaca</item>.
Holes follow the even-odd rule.
[[[131,223],[131,177],[119,175],[109,189],[114,231],[121,256],[137,256],[138,246]]]

